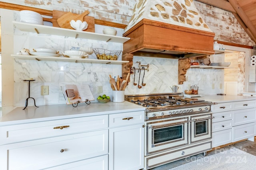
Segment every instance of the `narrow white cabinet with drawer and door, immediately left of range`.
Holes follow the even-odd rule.
[[[144,114],[109,115],[109,170],[144,168]]]

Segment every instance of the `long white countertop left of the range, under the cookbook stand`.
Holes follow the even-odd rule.
[[[122,103],[108,102],[106,104],[91,102],[89,105],[80,103],[77,107],[58,104],[39,107],[28,106],[26,109],[22,110],[23,108],[24,107],[17,107],[4,115],[2,119],[0,119],[0,126],[145,110],[142,106],[126,101]]]

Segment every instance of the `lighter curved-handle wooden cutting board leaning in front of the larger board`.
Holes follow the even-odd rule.
[[[63,16],[61,16],[60,18],[57,19],[58,24],[60,25],[60,27],[62,28],[68,28],[71,29],[72,27],[70,26],[70,21],[71,20],[83,20],[84,16],[87,16],[90,12],[89,11],[85,11],[82,14],[74,14],[72,12],[68,12],[66,14],[64,14]]]

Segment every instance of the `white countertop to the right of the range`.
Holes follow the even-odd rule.
[[[252,96],[235,96],[235,95],[204,95],[200,97],[200,99],[204,99],[210,102],[216,103],[225,103],[225,102],[238,102],[238,101],[246,101],[246,100],[256,100],[256,97]]]

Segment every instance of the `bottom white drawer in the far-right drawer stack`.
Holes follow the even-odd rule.
[[[256,123],[248,123],[233,127],[233,142],[240,141],[256,134]]]

